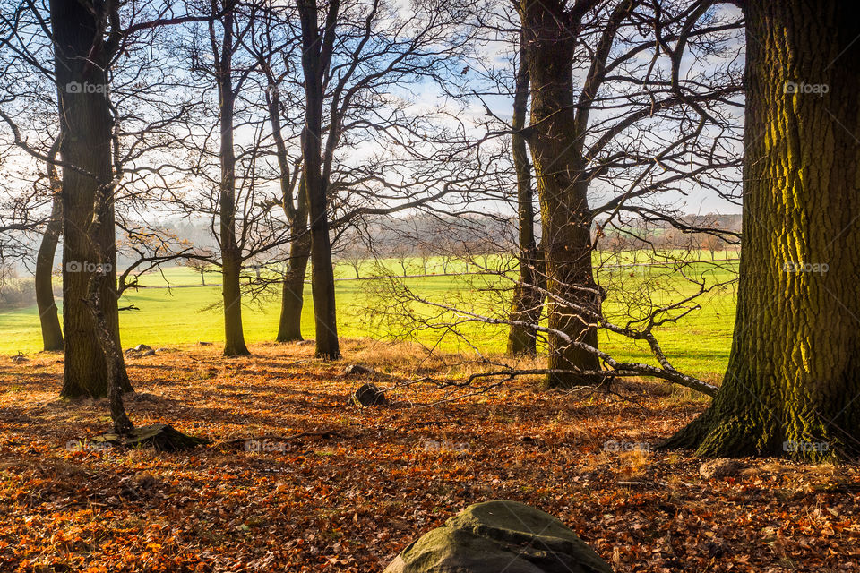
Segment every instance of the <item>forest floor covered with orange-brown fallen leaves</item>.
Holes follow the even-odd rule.
[[[561,518],[619,573],[860,570],[856,465],[745,459],[707,480],[691,452],[652,449],[705,405],[664,385],[524,380],[439,403],[431,381],[402,381],[441,380],[456,357],[344,346],[333,363],[296,345],[128,359],[134,423],[213,441],[181,453],[94,448],[107,405],[57,399],[62,355],[0,358],[0,571],[378,572],[493,499]],[[348,406],[368,378],[348,363],[401,381],[393,403]],[[267,435],[294,438],[242,441]]]

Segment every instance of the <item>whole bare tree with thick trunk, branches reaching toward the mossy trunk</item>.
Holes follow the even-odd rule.
[[[712,5],[520,0],[531,85],[530,122],[520,133],[531,150],[541,209],[549,387],[603,378],[589,351],[598,347],[606,296],[592,268],[598,215],[608,216],[604,224],[622,211],[671,219],[645,201],[736,162],[725,146],[702,145],[713,141],[710,133],[731,132],[719,109],[733,106],[727,97],[739,90],[731,66],[700,73],[684,64],[688,49],[705,57],[724,51],[724,32],[739,26],[731,17],[719,21]],[[579,90],[574,71],[581,74]],[[673,136],[661,136],[664,129]],[[610,197],[592,206],[596,186]]]

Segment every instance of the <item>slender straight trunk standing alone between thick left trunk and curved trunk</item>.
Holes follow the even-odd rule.
[[[229,3],[225,3],[228,7]],[[233,93],[234,15],[224,15],[224,37],[218,67],[218,93],[221,129],[220,242],[221,295],[224,302],[224,355],[249,355],[242,328],[242,252],[236,242],[236,151],[233,149],[233,121],[236,95]]]

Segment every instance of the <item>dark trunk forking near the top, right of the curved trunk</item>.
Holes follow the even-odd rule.
[[[311,218],[311,290],[314,294],[318,358],[340,358],[338,318],[334,298],[334,267],[323,178],[323,76],[331,61],[338,0],[331,0],[324,34],[320,34],[315,0],[297,0],[302,24],[302,68],[305,75],[305,130],[302,133],[305,192]]]

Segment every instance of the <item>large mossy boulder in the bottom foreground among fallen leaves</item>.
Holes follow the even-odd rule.
[[[383,573],[612,573],[557,518],[524,503],[463,509],[400,552]]]

